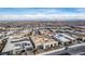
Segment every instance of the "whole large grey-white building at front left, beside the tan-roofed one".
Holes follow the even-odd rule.
[[[29,51],[33,47],[29,38],[10,37],[2,52],[11,52],[12,54],[17,54],[17,52],[22,52],[23,50]]]

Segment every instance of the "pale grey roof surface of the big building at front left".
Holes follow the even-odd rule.
[[[6,46],[4,47],[2,52],[6,52],[6,51],[11,51],[11,50],[15,50],[15,49],[20,49],[20,46],[15,46],[16,43],[30,43],[30,46],[32,47],[31,42],[29,41],[29,39],[27,40],[26,38],[20,38],[18,40],[13,40],[13,39],[9,39],[6,42]]]

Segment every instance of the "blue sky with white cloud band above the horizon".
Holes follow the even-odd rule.
[[[85,8],[0,8],[0,21],[70,18],[84,20]]]

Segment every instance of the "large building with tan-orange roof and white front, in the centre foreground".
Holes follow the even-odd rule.
[[[54,39],[49,38],[48,36],[33,36],[31,37],[36,49],[48,49],[51,47],[58,46],[58,41],[55,41]]]

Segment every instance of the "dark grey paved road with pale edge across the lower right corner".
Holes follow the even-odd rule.
[[[70,47],[68,50],[61,49],[58,51],[43,53],[44,55],[85,55],[85,43],[80,43]]]

